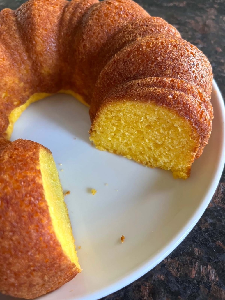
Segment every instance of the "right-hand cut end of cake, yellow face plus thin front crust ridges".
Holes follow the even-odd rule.
[[[191,164],[208,142],[212,116],[194,92],[184,93],[185,83],[179,90],[170,81],[139,79],[111,90],[91,126],[96,148],[171,170],[175,178],[189,177]]]

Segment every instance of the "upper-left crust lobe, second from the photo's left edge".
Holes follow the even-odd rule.
[[[63,60],[59,56],[58,31],[67,3],[66,0],[30,0],[15,11],[20,38],[32,58],[37,80],[35,92],[55,93],[60,89],[59,70]]]

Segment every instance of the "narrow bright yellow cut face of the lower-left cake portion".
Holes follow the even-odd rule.
[[[55,235],[61,244],[63,252],[76,265],[77,271],[81,271],[55,162],[51,153],[45,149],[40,150],[39,159],[45,199],[49,206],[49,214]]]

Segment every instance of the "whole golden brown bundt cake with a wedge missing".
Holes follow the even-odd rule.
[[[23,110],[71,94],[98,149],[186,179],[211,133],[212,68],[131,0],[29,0],[0,12],[0,70],[0,291],[35,298],[81,269],[51,152],[9,141]]]

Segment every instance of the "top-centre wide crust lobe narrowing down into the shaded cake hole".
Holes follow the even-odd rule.
[[[92,5],[84,14],[75,37],[76,66],[73,70],[73,81],[78,94],[90,104],[89,86],[92,86],[92,72],[95,60],[101,48],[107,44],[126,24],[149,14],[131,0],[106,0]],[[90,81],[90,82],[89,82]]]

